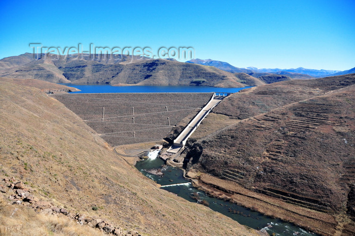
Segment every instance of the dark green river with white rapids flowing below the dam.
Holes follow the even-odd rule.
[[[162,185],[161,188],[164,190],[173,192],[194,203],[198,201],[202,203],[203,201],[210,209],[220,212],[240,224],[258,230],[265,228],[270,235],[317,235],[291,223],[264,216],[258,212],[230,203],[229,201],[210,197],[206,195],[205,192],[193,187],[192,184],[183,177],[183,170],[165,165],[164,160],[157,156],[158,151],[150,152],[148,159],[138,161],[135,167],[145,176]]]

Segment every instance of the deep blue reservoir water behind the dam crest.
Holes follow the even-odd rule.
[[[208,86],[112,86],[108,84],[103,85],[77,85],[77,84],[63,84],[69,87],[80,89],[78,92],[70,93],[125,93],[125,92],[225,92],[234,93],[244,88],[216,88]]]

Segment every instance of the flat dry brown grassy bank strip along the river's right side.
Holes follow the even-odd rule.
[[[325,236],[336,235],[337,221],[335,217],[322,212],[285,203],[277,198],[266,196],[245,189],[238,184],[216,177],[190,171],[186,173],[196,188],[211,196],[231,201],[272,218],[291,222],[309,231]]]

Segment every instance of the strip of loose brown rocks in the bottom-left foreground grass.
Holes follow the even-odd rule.
[[[121,227],[114,226],[107,220],[98,217],[89,217],[80,213],[69,212],[65,208],[54,206],[51,201],[41,200],[34,196],[33,190],[24,183],[16,181],[14,177],[5,178],[0,181],[0,192],[13,205],[24,205],[32,208],[37,213],[50,215],[64,215],[75,220],[80,225],[87,225],[92,228],[117,236],[140,236],[136,231],[125,231]]]

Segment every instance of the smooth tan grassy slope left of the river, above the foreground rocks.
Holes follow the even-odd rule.
[[[1,179],[15,177],[53,206],[142,235],[256,235],[157,188],[56,99],[36,88],[0,83]]]

